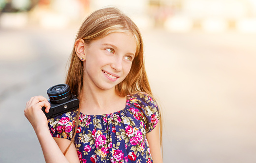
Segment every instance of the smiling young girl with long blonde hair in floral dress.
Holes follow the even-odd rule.
[[[79,109],[48,119],[42,96],[26,104],[46,163],[161,163],[160,112],[151,97],[138,27],[116,8],[80,27],[66,84]],[[50,128],[50,132],[49,132]]]

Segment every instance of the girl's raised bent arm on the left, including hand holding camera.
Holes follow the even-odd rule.
[[[35,134],[40,142],[46,163],[80,163],[74,145],[70,147],[65,157],[51,136],[48,128],[48,121],[42,111],[45,107],[46,112],[50,109],[50,103],[43,96],[32,97],[26,104],[24,114],[32,124]],[[67,140],[69,141],[69,140]],[[62,141],[64,144],[66,141]],[[70,141],[69,141],[70,142]],[[61,145],[60,145],[61,146]],[[67,145],[66,145],[67,146]],[[74,154],[75,153],[75,154]]]

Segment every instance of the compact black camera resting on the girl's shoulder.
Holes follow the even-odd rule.
[[[54,85],[47,90],[47,94],[51,108],[47,113],[45,112],[45,107],[42,107],[47,118],[79,108],[79,100],[71,93],[68,84]]]

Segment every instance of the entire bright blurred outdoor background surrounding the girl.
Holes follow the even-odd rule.
[[[164,163],[256,163],[256,0],[0,0],[0,163],[44,163],[26,102],[63,83],[82,21],[138,25]]]

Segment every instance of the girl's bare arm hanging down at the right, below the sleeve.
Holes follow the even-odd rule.
[[[146,134],[148,139],[150,153],[154,163],[162,163],[160,136],[159,136],[159,123],[151,132]]]

